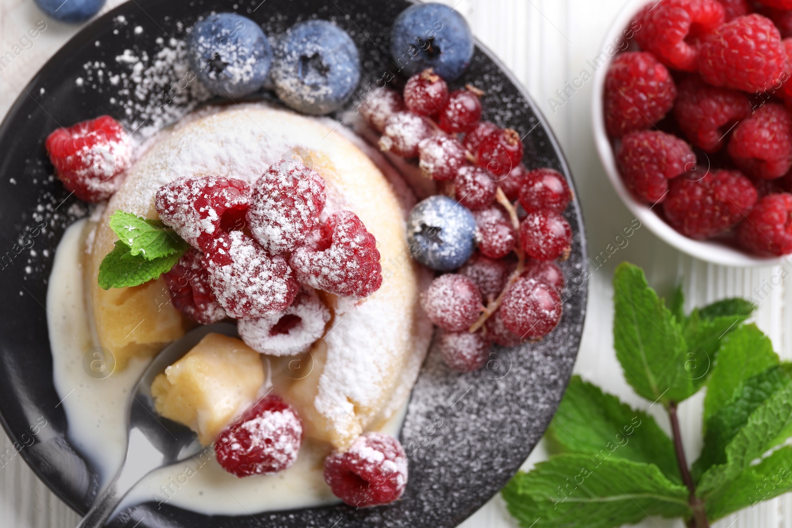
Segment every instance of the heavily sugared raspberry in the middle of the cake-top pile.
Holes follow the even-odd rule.
[[[216,238],[204,253],[204,268],[220,306],[238,319],[286,310],[299,288],[286,259],[269,255],[242,231]]]

